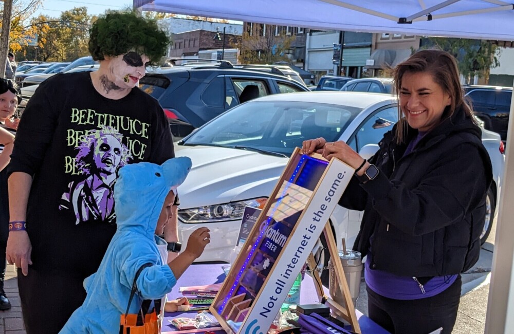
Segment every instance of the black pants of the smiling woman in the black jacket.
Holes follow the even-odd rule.
[[[451,334],[461,299],[461,275],[445,291],[423,299],[402,301],[368,291],[368,313],[371,320],[393,334],[428,334],[443,327]]]

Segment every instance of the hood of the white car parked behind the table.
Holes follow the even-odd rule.
[[[180,209],[269,196],[288,159],[211,146],[175,146],[193,167],[180,187]]]

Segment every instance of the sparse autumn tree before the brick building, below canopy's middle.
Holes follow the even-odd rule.
[[[239,49],[239,62],[241,64],[273,64],[289,61],[287,51],[296,36],[286,35],[284,32],[276,35],[270,30],[266,32],[248,31],[235,47]]]

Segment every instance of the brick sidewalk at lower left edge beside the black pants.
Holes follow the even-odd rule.
[[[25,334],[17,283],[16,268],[7,265],[4,289],[12,307],[10,310],[0,311],[0,334]]]

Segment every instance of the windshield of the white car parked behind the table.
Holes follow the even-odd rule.
[[[307,139],[339,139],[361,108],[295,101],[252,101],[200,127],[184,145],[260,150],[290,156]]]

